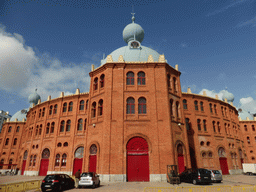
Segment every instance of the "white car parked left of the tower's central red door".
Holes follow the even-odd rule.
[[[100,178],[95,172],[84,172],[81,174],[78,188],[91,186],[95,188],[100,186]]]

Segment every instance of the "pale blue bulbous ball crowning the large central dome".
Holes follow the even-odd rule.
[[[135,39],[141,43],[144,39],[144,30],[139,24],[130,23],[123,30],[123,39],[128,43],[129,41],[134,40],[134,36]]]

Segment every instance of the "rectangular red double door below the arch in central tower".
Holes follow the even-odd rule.
[[[128,154],[127,166],[128,181],[149,181],[148,154]]]

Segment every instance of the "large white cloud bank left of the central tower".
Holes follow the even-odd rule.
[[[25,45],[22,35],[10,34],[0,26],[0,89],[17,92],[28,97],[38,89],[42,101],[48,95],[59,97],[74,94],[76,88],[88,91],[90,65],[69,63],[64,65],[58,58],[49,54],[36,54],[33,48]]]

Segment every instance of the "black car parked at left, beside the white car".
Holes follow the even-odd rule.
[[[73,189],[74,179],[66,174],[46,175],[41,184],[41,190],[44,191],[62,191],[64,189]]]

